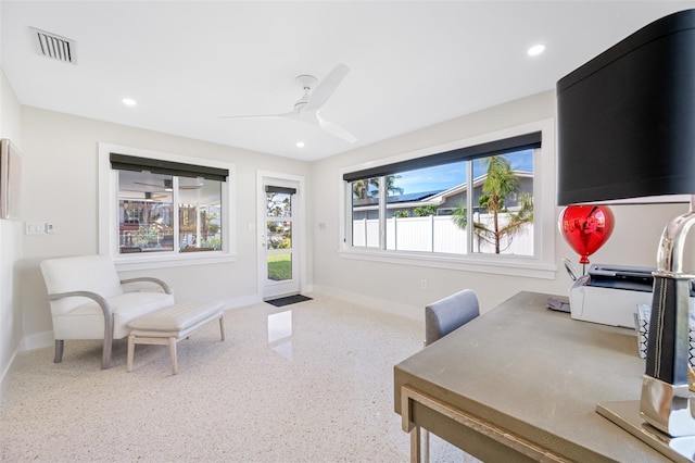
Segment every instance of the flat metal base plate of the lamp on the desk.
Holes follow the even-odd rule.
[[[695,436],[670,437],[645,423],[639,400],[599,402],[596,412],[674,462],[695,461]]]

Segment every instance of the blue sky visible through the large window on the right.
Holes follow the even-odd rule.
[[[509,153],[505,158],[511,163],[511,168],[533,172],[533,150]],[[403,188],[403,195],[446,190],[466,182],[467,164],[463,161],[405,172],[399,174],[400,178],[395,179],[394,186]],[[484,170],[481,160],[473,161],[473,177],[484,174]]]

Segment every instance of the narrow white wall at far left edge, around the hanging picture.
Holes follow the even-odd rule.
[[[22,150],[20,103],[0,70],[0,138]],[[22,256],[22,223],[0,220],[0,380],[22,340],[22,308],[16,264]]]

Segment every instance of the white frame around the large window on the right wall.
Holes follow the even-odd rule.
[[[432,252],[393,251],[377,248],[352,246],[352,191],[348,191],[346,174],[381,165],[407,162],[445,151],[494,142],[532,132],[541,132],[542,146],[533,154],[533,247],[534,255],[506,254],[443,254]],[[339,172],[340,188],[340,229],[339,255],[393,264],[426,267],[450,268],[477,273],[503,274],[531,278],[554,279],[557,272],[555,263],[555,120],[546,118],[476,137],[459,139],[435,147],[394,155],[377,162],[366,162],[343,167]],[[470,170],[469,170],[470,171]],[[469,173],[469,176],[471,173]],[[470,178],[469,178],[470,182]],[[469,204],[470,207],[470,204]],[[382,215],[382,214],[381,214]],[[381,217],[380,215],[380,217]]]

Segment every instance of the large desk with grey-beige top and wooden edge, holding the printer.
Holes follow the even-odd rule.
[[[490,462],[668,461],[595,411],[640,399],[636,334],[549,311],[548,297],[519,292],[395,365],[404,430]]]

